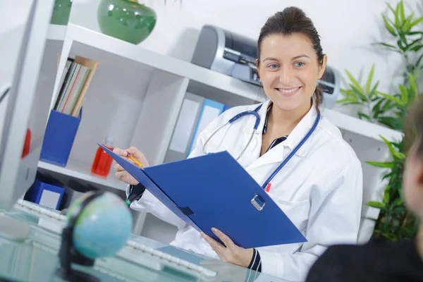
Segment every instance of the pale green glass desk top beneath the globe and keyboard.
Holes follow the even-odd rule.
[[[41,206],[39,206],[41,207]],[[59,266],[61,232],[40,225],[40,218],[59,226],[59,221],[16,205],[2,216],[18,219],[30,226],[23,240],[0,236],[0,281],[63,281],[56,276]],[[62,224],[63,226],[63,224]],[[148,248],[149,252],[144,251]],[[151,255],[153,250],[165,252],[192,264],[203,272],[183,267],[174,262]],[[114,257],[97,259],[93,267],[77,266],[73,269],[92,274],[100,281],[284,281],[240,266],[227,264],[210,257],[180,250],[149,238],[132,235],[128,244]]]

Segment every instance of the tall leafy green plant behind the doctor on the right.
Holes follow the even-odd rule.
[[[362,106],[363,111],[358,111],[357,116],[372,123],[379,123],[388,128],[405,131],[405,116],[409,106],[415,102],[419,94],[416,78],[423,68],[423,31],[417,30],[417,24],[423,21],[423,17],[415,19],[415,13],[405,15],[403,0],[396,8],[388,4],[393,18],[382,14],[384,25],[396,43],[377,42],[376,45],[390,51],[395,51],[405,59],[403,71],[403,83],[398,85],[398,92],[386,94],[377,90],[379,81],[373,84],[374,66],[367,77],[364,86],[345,70],[350,84],[347,89],[342,89],[345,99],[338,101],[339,104],[357,104]],[[396,44],[396,45],[394,45]],[[417,60],[412,61],[412,54],[417,55]],[[374,237],[390,241],[405,240],[417,234],[417,220],[407,209],[403,200],[403,171],[405,164],[404,139],[392,142],[381,136],[391,152],[391,160],[386,162],[367,161],[367,164],[384,168],[387,173],[383,180],[388,180],[384,190],[382,202],[368,202],[369,207],[380,209],[379,217],[374,228]]]

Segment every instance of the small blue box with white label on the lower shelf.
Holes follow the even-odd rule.
[[[51,209],[59,209],[64,192],[65,188],[57,183],[35,178],[34,184],[25,195],[25,200]]]

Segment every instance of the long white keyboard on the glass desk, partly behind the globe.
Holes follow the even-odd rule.
[[[61,233],[61,231],[59,230],[61,230],[61,228],[66,226],[67,218],[65,215],[60,214],[59,212],[54,212],[52,210],[49,210],[45,207],[40,206],[39,204],[28,202],[26,200],[18,200],[16,205],[20,207],[21,209],[30,211],[33,214],[37,214],[40,219],[47,219],[47,221],[53,219],[53,221],[55,221],[55,222],[44,222],[40,224],[41,226],[45,228],[49,228],[53,231]],[[59,226],[57,226],[58,224]],[[141,243],[135,242],[134,240],[128,240],[128,242],[126,243],[126,246],[133,248],[137,251],[143,252],[147,255],[151,255],[152,257],[159,258],[162,264],[165,264],[166,266],[171,267],[172,269],[176,269],[178,271],[182,270],[185,273],[194,274],[195,276],[201,276],[203,278],[204,277],[213,278],[217,275],[215,271],[211,271],[197,264],[192,264],[191,262],[187,262],[178,257],[168,255],[165,252],[154,250],[152,247],[148,247],[147,245],[143,245]]]

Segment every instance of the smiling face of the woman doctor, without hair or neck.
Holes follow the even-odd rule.
[[[266,36],[260,53],[257,69],[267,97],[284,110],[309,107],[326,56],[320,64],[312,42],[301,33]]]

